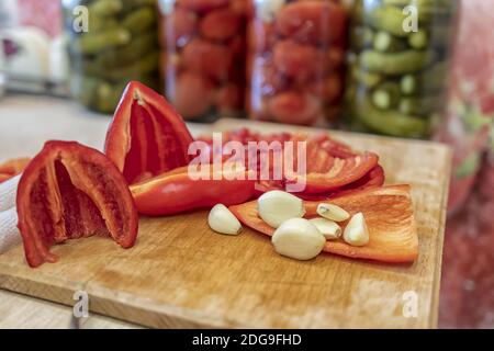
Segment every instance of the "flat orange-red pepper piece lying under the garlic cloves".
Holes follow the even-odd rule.
[[[305,202],[306,217],[317,217],[321,202]],[[392,185],[361,191],[330,200],[350,214],[362,212],[369,227],[370,241],[352,247],[343,240],[327,241],[325,252],[355,259],[381,262],[413,262],[418,257],[418,237],[408,185]],[[257,212],[257,202],[231,206],[229,210],[246,226],[271,236],[274,229]]]

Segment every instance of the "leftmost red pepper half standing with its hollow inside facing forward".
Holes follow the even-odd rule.
[[[58,258],[49,247],[93,235],[134,246],[138,216],[128,185],[100,151],[48,141],[24,170],[18,189],[19,229],[27,263]]]

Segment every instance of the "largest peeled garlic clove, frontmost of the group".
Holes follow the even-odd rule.
[[[271,242],[278,253],[306,261],[323,251],[326,238],[307,219],[292,218],[283,222],[274,231]]]

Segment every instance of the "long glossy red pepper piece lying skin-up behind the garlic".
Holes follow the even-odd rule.
[[[182,167],[131,186],[139,213],[150,216],[171,215],[216,204],[242,204],[254,197],[255,181],[245,167],[216,172],[212,165],[200,170]],[[199,174],[209,179],[198,179]],[[228,176],[227,176],[228,173]]]

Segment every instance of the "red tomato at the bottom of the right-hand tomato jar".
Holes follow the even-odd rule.
[[[321,114],[321,100],[297,91],[281,92],[269,101],[269,113],[281,123],[310,125]]]

